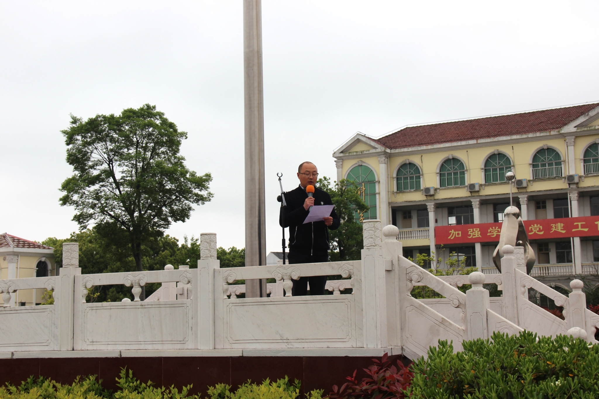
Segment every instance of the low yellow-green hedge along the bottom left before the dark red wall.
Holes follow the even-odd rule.
[[[101,380],[96,376],[89,376],[81,380],[75,379],[71,385],[62,385],[58,382],[40,377],[29,377],[20,386],[7,384],[0,387],[0,399],[199,399],[198,395],[189,395],[192,385],[187,385],[181,392],[174,386],[158,388],[152,382],[140,382],[133,376],[133,371],[123,369],[120,378],[117,378],[119,390],[116,392],[102,388]],[[248,381],[237,390],[231,392],[231,386],[217,384],[208,388],[208,397],[211,399],[295,399],[299,396],[301,382],[295,380],[290,383],[287,376],[277,382],[268,379],[260,385]],[[305,395],[305,399],[322,399],[322,390],[314,390]]]

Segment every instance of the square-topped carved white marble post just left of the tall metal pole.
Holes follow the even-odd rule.
[[[193,328],[199,332],[195,337],[198,347],[214,349],[214,298],[216,295],[222,297],[223,282],[214,279],[214,273],[220,267],[220,261],[216,259],[216,234],[201,233],[199,236],[198,283],[193,282],[192,296],[199,312],[193,315]]]

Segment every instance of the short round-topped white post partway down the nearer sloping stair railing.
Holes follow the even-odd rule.
[[[502,263],[503,270],[503,263]],[[487,327],[487,309],[491,307],[489,291],[483,288],[485,275],[480,272],[470,273],[468,281],[472,288],[466,291],[466,322],[465,327],[468,339],[487,339],[489,331]]]

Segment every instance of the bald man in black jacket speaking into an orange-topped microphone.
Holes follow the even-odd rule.
[[[314,184],[318,179],[318,169],[311,162],[302,162],[298,167],[299,186],[295,190],[285,193],[287,206],[282,208],[285,212],[285,226],[283,214],[279,217],[282,227],[289,227],[289,264],[294,263],[320,263],[329,260],[329,232],[337,230],[339,218],[333,208],[329,217],[322,221],[305,223],[308,209],[313,205],[332,205],[331,196],[326,191],[320,190]],[[308,197],[305,188],[314,186],[313,197]],[[326,276],[304,276],[299,280],[292,280],[293,296],[307,294],[308,281],[310,282],[311,295],[324,295]]]

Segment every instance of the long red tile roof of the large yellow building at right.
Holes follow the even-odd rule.
[[[519,114],[409,126],[375,141],[387,148],[419,147],[525,133],[559,130],[599,103],[521,112]]]

